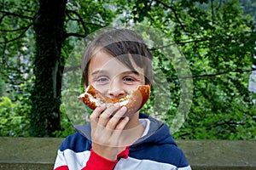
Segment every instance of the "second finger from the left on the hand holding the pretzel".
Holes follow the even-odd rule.
[[[98,125],[102,127],[106,127],[110,117],[113,115],[115,111],[119,108],[119,104],[114,104],[108,107],[102,114],[99,116]]]

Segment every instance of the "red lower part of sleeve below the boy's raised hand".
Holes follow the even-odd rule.
[[[90,158],[86,163],[86,167],[84,167],[82,170],[112,170],[117,162],[118,160],[110,161],[102,156],[99,156],[91,149]]]

